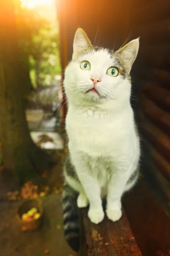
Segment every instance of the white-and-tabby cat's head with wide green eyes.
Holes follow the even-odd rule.
[[[65,70],[68,101],[102,104],[130,98],[130,70],[139,49],[139,38],[118,51],[93,47],[82,29],[77,29],[72,61]]]

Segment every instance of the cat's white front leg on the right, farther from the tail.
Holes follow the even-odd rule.
[[[125,190],[130,173],[133,172],[134,166],[131,163],[129,168],[120,166],[116,168],[108,183],[107,207],[106,214],[112,221],[118,221],[122,216],[121,197]]]

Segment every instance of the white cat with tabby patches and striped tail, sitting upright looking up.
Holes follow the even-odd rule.
[[[64,79],[68,155],[62,204],[65,238],[75,251],[77,206],[89,205],[88,217],[98,224],[106,198],[106,215],[118,221],[122,195],[139,175],[140,139],[130,105],[130,70],[138,49],[139,38],[114,52],[93,47],[80,28],[74,37]]]

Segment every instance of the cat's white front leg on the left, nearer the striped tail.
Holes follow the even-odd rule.
[[[104,218],[98,180],[91,175],[90,167],[84,157],[80,154],[73,154],[71,158],[76,167],[77,175],[85,191],[85,195],[90,203],[88,217],[91,222],[98,224]]]

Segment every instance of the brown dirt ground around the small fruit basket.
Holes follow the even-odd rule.
[[[42,226],[37,231],[21,231],[16,211],[21,201],[0,202],[0,256],[75,256],[63,236],[61,195],[42,198]]]

